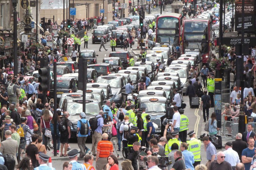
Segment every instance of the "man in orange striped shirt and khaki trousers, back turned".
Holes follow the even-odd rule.
[[[98,142],[97,145],[97,154],[96,154],[96,169],[97,170],[106,170],[108,163],[108,156],[113,155],[113,144],[108,141],[108,134],[102,134],[102,141]]]

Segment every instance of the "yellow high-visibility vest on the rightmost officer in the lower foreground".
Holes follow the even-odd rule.
[[[194,155],[195,162],[201,161],[201,141],[198,139],[188,140],[188,151]]]

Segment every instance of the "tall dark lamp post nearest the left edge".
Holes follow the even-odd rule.
[[[14,75],[17,76],[18,74],[18,44],[17,44],[17,0],[12,0],[12,7],[13,7],[13,65],[14,65]],[[37,23],[36,23],[37,24]]]

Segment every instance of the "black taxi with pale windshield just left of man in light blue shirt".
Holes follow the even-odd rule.
[[[124,76],[100,76],[96,83],[108,83],[114,95],[114,102],[121,105],[121,93],[125,92],[125,78]]]

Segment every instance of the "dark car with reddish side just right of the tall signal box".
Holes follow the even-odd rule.
[[[112,66],[112,64],[108,63],[98,63],[98,64],[90,64],[88,65],[89,69],[95,69],[98,75],[106,76],[109,73],[116,73],[117,69]]]

